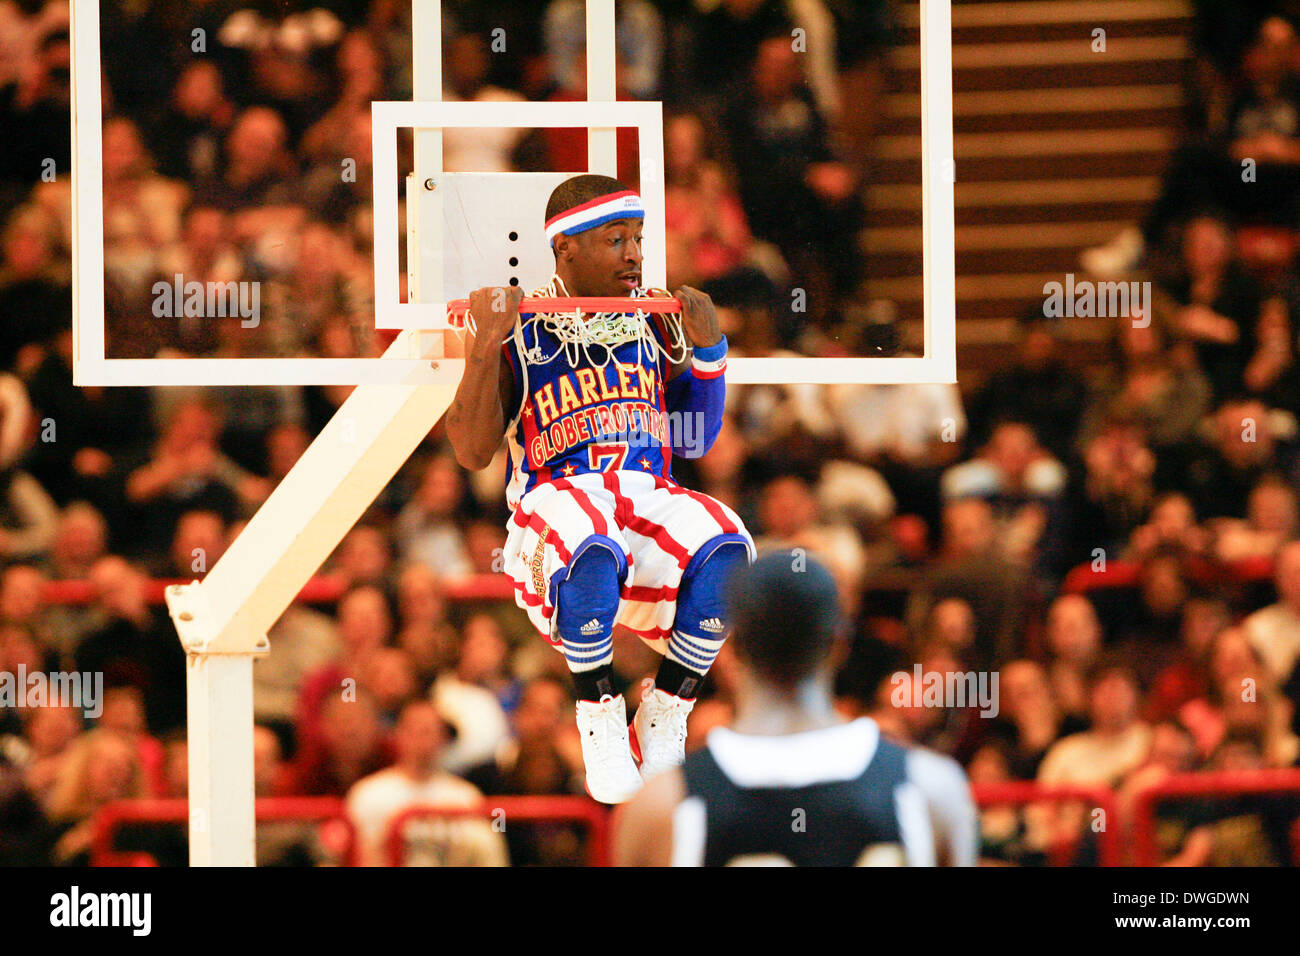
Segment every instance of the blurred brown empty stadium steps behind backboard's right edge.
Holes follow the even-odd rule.
[[[867,299],[920,342],[920,13],[900,38],[870,160]],[[1106,31],[1093,52],[1093,30]],[[963,389],[1000,362],[1043,285],[1140,221],[1183,126],[1188,0],[954,0],[957,343]],[[1071,319],[1087,360],[1104,320]]]

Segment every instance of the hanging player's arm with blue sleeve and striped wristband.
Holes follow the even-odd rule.
[[[681,328],[692,352],[690,365],[664,386],[670,421],[676,432],[672,450],[681,458],[701,458],[712,447],[723,427],[727,337],[718,328],[712,299],[690,286],[682,286],[675,295],[681,300]]]

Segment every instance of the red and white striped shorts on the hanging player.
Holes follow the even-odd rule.
[[[734,511],[671,479],[607,471],[540,484],[510,520],[503,570],[515,583],[516,604],[556,646],[555,585],[593,535],[612,540],[621,551],[615,554],[619,571],[627,571],[615,623],[660,653],[672,633],[682,571],[696,553],[718,538],[741,541],[749,559],[757,557]]]

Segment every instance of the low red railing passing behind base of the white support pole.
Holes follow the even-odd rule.
[[[260,797],[254,813],[259,823],[320,822],[344,829],[343,862],[351,866],[356,852],[356,829],[347,818],[338,797]],[[91,866],[157,866],[150,853],[114,849],[117,831],[130,823],[185,823],[190,819],[190,801],[114,800],[95,814],[95,836],[91,844]]]

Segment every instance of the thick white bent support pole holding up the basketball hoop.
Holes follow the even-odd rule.
[[[411,354],[415,341],[403,332],[389,352]],[[355,389],[208,576],[168,588],[187,653],[191,865],[252,865],[254,657],[455,393],[455,384]]]

